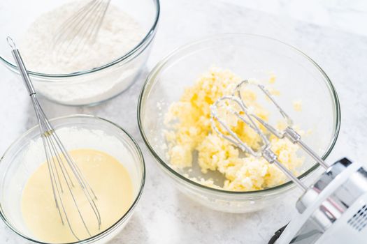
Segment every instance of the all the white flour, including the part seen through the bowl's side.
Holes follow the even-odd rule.
[[[123,56],[143,40],[143,27],[122,10],[110,4],[94,42],[82,45],[82,52],[75,54],[75,45],[60,52],[54,37],[68,16],[80,9],[86,1],[72,1],[39,16],[29,27],[20,45],[28,70],[47,74],[66,74],[96,68]],[[78,38],[78,37],[77,37]],[[78,46],[80,48],[80,46]],[[62,55],[60,55],[62,54]],[[36,91],[43,96],[66,105],[87,105],[111,98],[133,82],[145,62],[139,56],[129,63],[52,82],[34,79]]]

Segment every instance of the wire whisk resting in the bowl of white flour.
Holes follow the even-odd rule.
[[[59,26],[53,38],[57,53],[80,52],[99,33],[110,0],[90,0]],[[75,45],[73,45],[75,43]]]

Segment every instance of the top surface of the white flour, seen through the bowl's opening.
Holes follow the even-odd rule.
[[[66,74],[96,68],[123,56],[143,39],[142,27],[120,8],[110,4],[95,42],[86,42],[82,47],[84,52],[75,55],[75,46],[79,40],[71,42],[68,49],[57,52],[54,38],[59,31],[58,27],[83,4],[85,1],[71,1],[44,13],[31,24],[21,43],[24,63],[29,70]],[[92,22],[94,18],[87,17],[87,23]],[[72,37],[71,35],[68,41]],[[78,38],[80,36],[76,36],[76,39]]]

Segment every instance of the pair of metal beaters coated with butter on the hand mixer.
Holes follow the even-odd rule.
[[[268,98],[273,103],[273,105],[275,105],[275,107],[278,109],[278,112],[280,112],[283,119],[285,119],[285,122],[287,123],[287,128],[285,128],[285,130],[278,130],[273,125],[267,123],[266,121],[264,121],[264,119],[261,119],[259,116],[254,114],[254,112],[252,112],[252,109],[247,107],[245,101],[241,96],[240,89],[243,86],[255,86],[262,93],[264,93],[266,98]],[[224,111],[225,115],[233,114],[234,116],[236,116],[238,121],[243,121],[246,125],[252,128],[252,130],[254,130],[257,135],[260,136],[262,144],[257,151],[254,151],[249,145],[243,142],[240,137],[238,137],[236,132],[232,130],[231,125],[226,123],[226,118],[222,116],[223,113],[220,114],[220,109]],[[299,181],[298,178],[294,176],[291,171],[289,171],[284,165],[282,165],[281,162],[279,162],[277,155],[273,151],[271,151],[271,143],[269,142],[268,137],[266,137],[266,134],[259,128],[259,124],[257,122],[259,122],[261,125],[264,125],[266,130],[268,130],[268,132],[271,132],[276,137],[287,138],[293,144],[298,144],[306,153],[308,153],[308,155],[316,160],[319,165],[322,165],[322,167],[324,167],[325,169],[329,168],[324,160],[322,160],[322,158],[319,158],[319,156],[301,140],[301,135],[299,135],[296,130],[292,128],[292,119],[286,114],[282,107],[280,107],[280,105],[275,102],[275,99],[273,98],[273,96],[271,96],[271,93],[269,93],[265,86],[261,84],[252,83],[247,80],[240,82],[240,84],[238,84],[234,89],[231,96],[223,96],[222,98],[219,98],[210,107],[210,110],[212,127],[218,135],[231,142],[231,144],[238,146],[238,148],[240,148],[245,153],[253,155],[257,158],[262,157],[269,163],[275,164],[288,178],[290,178],[294,183],[296,183],[296,185],[298,185],[299,188],[303,190],[307,189],[306,186],[301,181]]]

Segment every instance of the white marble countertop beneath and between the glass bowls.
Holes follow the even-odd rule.
[[[265,2],[265,3],[264,3]],[[199,206],[168,185],[145,148],[136,124],[136,103],[145,75],[159,59],[190,40],[214,33],[271,36],[311,56],[335,84],[342,127],[329,162],[367,157],[367,5],[365,1],[162,0],[152,54],[141,79],[117,98],[96,107],[62,107],[42,100],[50,117],[95,114],[122,125],[145,155],[147,181],[136,213],[112,243],[267,243],[294,214],[299,192],[251,214],[218,213]],[[22,82],[0,66],[0,153],[35,124]],[[0,243],[27,243],[0,223]]]

